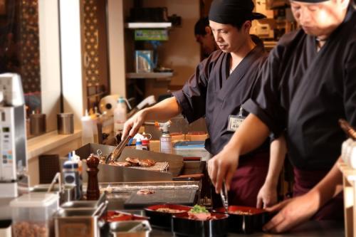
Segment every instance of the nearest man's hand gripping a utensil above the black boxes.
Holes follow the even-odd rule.
[[[224,147],[219,154],[209,160],[208,174],[212,184],[215,186],[216,194],[220,193],[223,181],[225,181],[226,188],[230,189],[231,179],[238,164],[239,155],[229,147]]]

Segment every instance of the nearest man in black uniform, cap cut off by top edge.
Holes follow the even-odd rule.
[[[265,226],[281,232],[309,218],[342,219],[341,174],[335,162],[346,139],[337,120],[356,126],[356,14],[350,0],[290,1],[301,28],[271,51],[261,91],[244,103],[250,115],[224,149],[209,160],[216,189],[231,177],[239,156],[270,132],[286,132],[294,167],[295,199],[274,206]],[[255,94],[256,95],[256,94]],[[248,135],[248,136],[247,136]]]

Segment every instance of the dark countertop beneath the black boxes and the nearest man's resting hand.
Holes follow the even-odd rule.
[[[153,229],[150,236],[154,237],[166,237],[173,236],[172,232],[161,231]],[[283,234],[270,234],[270,233],[252,233],[252,234],[237,234],[229,233],[228,236],[236,237],[342,237],[345,236],[345,230],[343,223],[337,223],[335,221],[308,221],[302,225],[294,228],[288,233]]]

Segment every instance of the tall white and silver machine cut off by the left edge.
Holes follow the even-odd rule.
[[[28,192],[25,117],[20,75],[0,74],[0,224],[11,220],[9,202]]]

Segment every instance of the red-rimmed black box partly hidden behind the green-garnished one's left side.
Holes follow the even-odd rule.
[[[157,209],[162,208],[174,209],[182,212],[187,212],[192,209],[192,207],[190,206],[183,206],[177,204],[160,204],[154,206],[147,206],[147,208],[145,208],[145,215],[150,217],[150,223],[152,224],[152,226],[169,229],[169,231],[172,228],[173,214],[168,212],[157,211]]]

